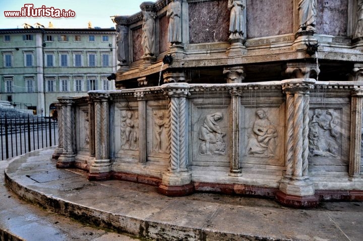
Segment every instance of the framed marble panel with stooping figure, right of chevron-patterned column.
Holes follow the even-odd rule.
[[[189,108],[190,164],[230,166],[229,101],[194,99]]]

